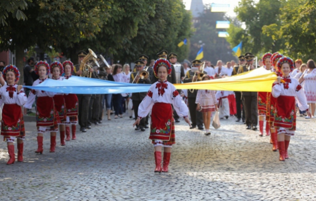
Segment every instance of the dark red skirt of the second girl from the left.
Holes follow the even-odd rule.
[[[39,97],[36,103],[36,126],[54,126],[60,123],[52,97]]]

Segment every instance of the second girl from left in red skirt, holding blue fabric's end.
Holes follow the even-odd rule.
[[[47,79],[50,68],[47,62],[40,61],[35,65],[35,73],[40,76],[39,79],[33,82],[33,86],[36,86]],[[31,90],[27,102],[24,105],[24,113],[26,109],[31,109],[35,98],[38,97],[36,102],[36,126],[38,127],[38,149],[35,153],[43,153],[43,134],[50,132],[50,150],[49,152],[55,152],[56,146],[56,132],[58,131],[58,114],[54,106],[53,97],[56,93],[45,92],[41,90]]]

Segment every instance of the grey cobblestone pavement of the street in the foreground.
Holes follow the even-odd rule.
[[[316,200],[314,119],[299,117],[285,162],[270,137],[235,118],[222,120],[210,136],[181,120],[168,173],[154,173],[149,131],[135,131],[132,123],[126,116],[104,120],[66,146],[58,134],[55,153],[45,134],[37,155],[35,122],[27,122],[23,163],[5,165],[6,144],[0,145],[0,200]]]

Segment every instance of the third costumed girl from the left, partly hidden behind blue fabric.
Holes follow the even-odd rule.
[[[60,76],[57,79],[52,76],[52,79],[62,81],[64,79],[64,77],[61,77],[61,75],[64,73],[63,65],[59,62],[53,62],[50,64],[51,71],[53,71],[54,67],[59,68]],[[64,99],[64,94],[56,93],[53,99],[54,99],[55,108],[57,110],[57,114],[61,122],[59,123],[60,145],[65,146],[66,143],[65,143],[65,126],[64,125],[66,122],[66,103]]]

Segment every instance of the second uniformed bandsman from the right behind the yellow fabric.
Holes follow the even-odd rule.
[[[246,67],[246,59],[244,58],[243,55],[240,55],[238,57],[239,59],[239,65],[236,65],[233,69],[232,75],[237,75],[240,74],[244,71],[247,71]],[[240,122],[240,119],[242,118],[242,122],[245,122],[246,120],[246,115],[245,115],[245,110],[243,106],[243,101],[241,98],[241,92],[235,92],[235,97],[236,97],[236,106],[237,106],[237,120],[236,122]],[[241,109],[242,108],[242,109]],[[242,116],[241,116],[241,111],[242,111]]]

